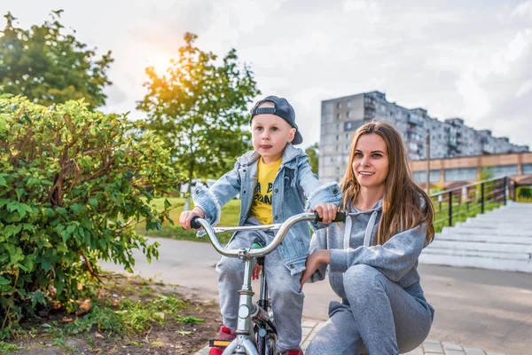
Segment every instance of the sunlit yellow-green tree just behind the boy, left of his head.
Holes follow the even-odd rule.
[[[220,60],[194,46],[196,39],[184,35],[178,59],[170,61],[164,75],[146,68],[148,92],[137,105],[148,113],[148,128],[188,172],[189,182],[197,171],[219,177],[248,149],[247,105],[260,94],[251,69],[239,66],[237,51]]]

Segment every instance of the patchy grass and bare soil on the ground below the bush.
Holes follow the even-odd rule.
[[[219,317],[214,304],[186,300],[176,286],[153,279],[119,274],[103,280],[86,314],[59,308],[30,317],[9,343],[0,341],[0,355],[43,350],[106,354],[117,349],[139,355],[155,348],[161,353],[193,353],[214,333]]]

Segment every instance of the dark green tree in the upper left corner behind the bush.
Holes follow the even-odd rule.
[[[30,29],[16,28],[8,12],[0,31],[0,91],[26,96],[45,106],[84,98],[90,107],[106,103],[104,87],[111,84],[106,70],[111,51],[97,59],[94,50],[65,33],[59,22],[62,10],[51,20]],[[75,31],[74,31],[75,34]]]

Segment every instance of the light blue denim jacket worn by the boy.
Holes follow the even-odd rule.
[[[215,185],[207,189],[197,185],[192,193],[194,204],[205,212],[205,219],[216,225],[220,221],[222,206],[240,193],[239,225],[244,225],[253,203],[257,184],[257,163],[260,155],[254,151],[239,157],[233,170],[220,177]],[[321,185],[312,173],[309,156],[300,148],[288,144],[283,152],[281,166],[273,182],[271,212],[273,223],[282,223],[289,217],[314,209],[317,204],[332,202],[340,205],[341,193],[337,183]],[[307,201],[308,200],[308,201]],[[305,201],[307,204],[305,205]],[[313,225],[314,229],[325,225]],[[198,236],[204,235],[201,230]],[[286,234],[278,250],[286,268],[291,274],[305,270],[309,255],[309,225],[298,223]]]

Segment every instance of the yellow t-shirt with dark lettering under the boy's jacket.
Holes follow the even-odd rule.
[[[277,162],[265,164],[262,161],[262,157],[259,159],[257,186],[255,187],[249,216],[256,217],[262,225],[271,225],[273,223],[273,218],[271,217],[271,190],[282,160],[280,158]]]

